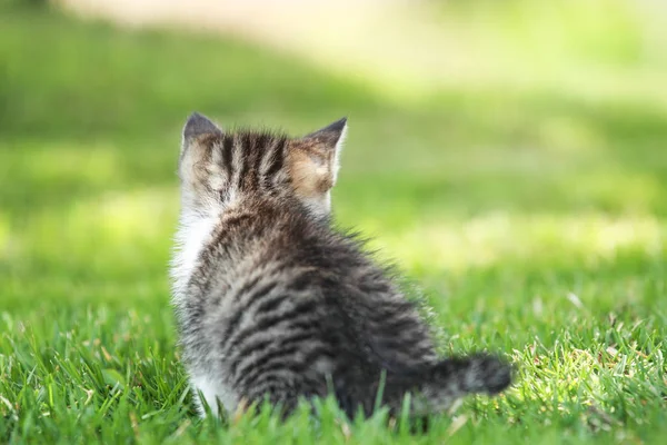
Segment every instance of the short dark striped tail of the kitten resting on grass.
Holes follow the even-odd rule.
[[[468,394],[498,394],[511,384],[511,365],[497,356],[451,357],[418,370],[388,373],[382,399],[398,412],[406,393],[411,393],[412,414],[438,413]]]

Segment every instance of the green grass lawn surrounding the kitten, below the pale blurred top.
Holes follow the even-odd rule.
[[[594,100],[549,79],[401,103],[233,40],[2,8],[0,443],[661,443],[660,95]],[[664,79],[655,60],[606,69],[619,85]],[[349,116],[338,220],[420,284],[445,353],[505,353],[514,388],[415,437],[382,413],[348,424],[330,400],[286,424],[200,421],[167,279],[195,109],[295,134]]]

